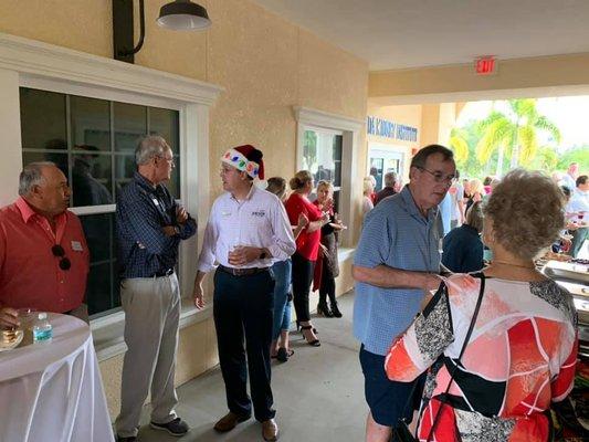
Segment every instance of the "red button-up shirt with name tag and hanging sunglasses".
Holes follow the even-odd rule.
[[[60,269],[51,248],[61,244],[72,263]],[[80,307],[86,292],[88,248],[78,218],[66,210],[49,221],[24,199],[0,209],[0,305],[64,313]]]

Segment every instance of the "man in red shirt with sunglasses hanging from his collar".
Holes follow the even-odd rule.
[[[13,325],[14,309],[27,307],[84,316],[88,249],[67,210],[65,176],[53,162],[32,162],[19,194],[0,209],[0,325]]]

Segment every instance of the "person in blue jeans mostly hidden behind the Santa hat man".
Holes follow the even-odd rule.
[[[267,179],[266,190],[274,193],[284,203],[286,200],[286,180],[281,177]],[[293,229],[293,236],[296,238],[308,224],[308,219],[301,214],[298,223]],[[288,348],[288,328],[291,326],[291,302],[288,299],[292,281],[291,256],[286,260],[275,261],[272,264],[274,275],[274,329],[272,332],[272,344],[270,345],[270,357],[281,362],[286,362],[294,350]]]

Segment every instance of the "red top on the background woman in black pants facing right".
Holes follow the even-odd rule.
[[[285,207],[292,225],[296,225],[298,223],[298,215],[301,213],[304,213],[309,221],[317,221],[322,219],[322,211],[301,193],[293,192],[291,197],[288,197]],[[309,233],[307,228],[305,228],[296,239],[296,251],[299,255],[309,261],[317,261],[320,240],[320,229]]]

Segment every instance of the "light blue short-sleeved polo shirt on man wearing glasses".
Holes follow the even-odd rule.
[[[440,238],[438,208],[424,218],[406,186],[367,214],[354,264],[439,273]],[[422,298],[423,291],[419,288],[382,288],[356,283],[354,336],[367,351],[385,356],[395,337],[413,320]]]

